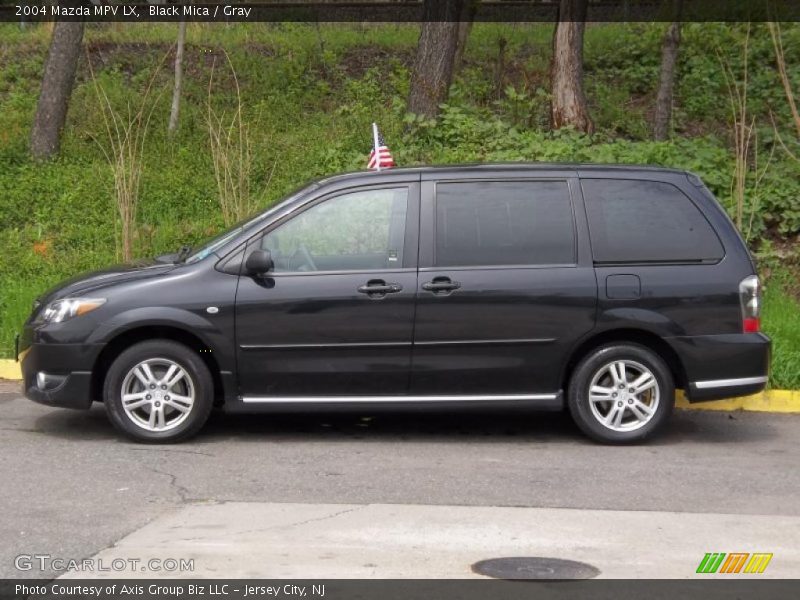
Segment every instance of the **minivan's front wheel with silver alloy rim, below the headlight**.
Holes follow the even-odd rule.
[[[196,352],[171,340],[151,340],[114,360],[103,402],[111,422],[129,438],[175,443],[195,435],[208,420],[214,382]]]

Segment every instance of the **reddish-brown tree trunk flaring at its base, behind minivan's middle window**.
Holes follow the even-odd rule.
[[[553,33],[553,61],[550,69],[553,100],[550,120],[553,129],[573,126],[591,133],[586,97],[583,94],[583,31],[586,0],[561,0],[558,24]]]

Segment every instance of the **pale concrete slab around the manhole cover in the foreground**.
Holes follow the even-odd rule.
[[[783,516],[230,502],[170,513],[98,558],[193,559],[184,577],[446,579],[481,577],[470,566],[487,558],[540,556],[591,564],[605,578],[707,579],[695,573],[706,552],[771,552],[764,573],[749,576],[780,579],[800,575],[798,531],[800,517]]]

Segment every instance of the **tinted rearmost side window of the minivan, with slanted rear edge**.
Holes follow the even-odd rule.
[[[700,209],[674,185],[583,179],[581,186],[596,262],[711,261],[725,254]]]

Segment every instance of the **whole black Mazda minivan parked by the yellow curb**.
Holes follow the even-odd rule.
[[[203,247],[62,283],[24,391],[142,442],[231,412],[568,407],[595,440],[764,388],[747,247],[698,177],[598,165],[317,181]]]

